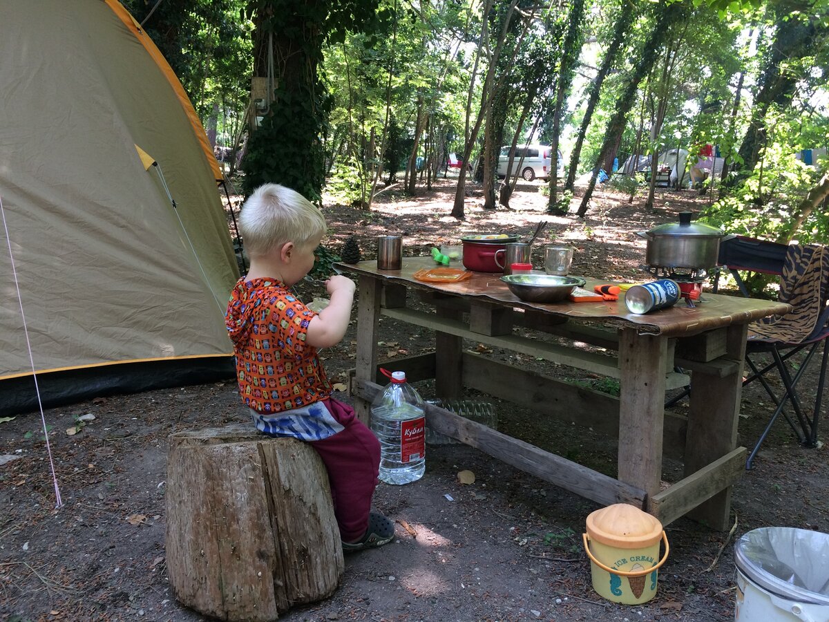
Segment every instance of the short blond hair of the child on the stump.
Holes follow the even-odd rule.
[[[276,246],[302,246],[322,237],[325,217],[299,192],[276,183],[256,188],[239,216],[239,231],[250,255],[264,255]]]

